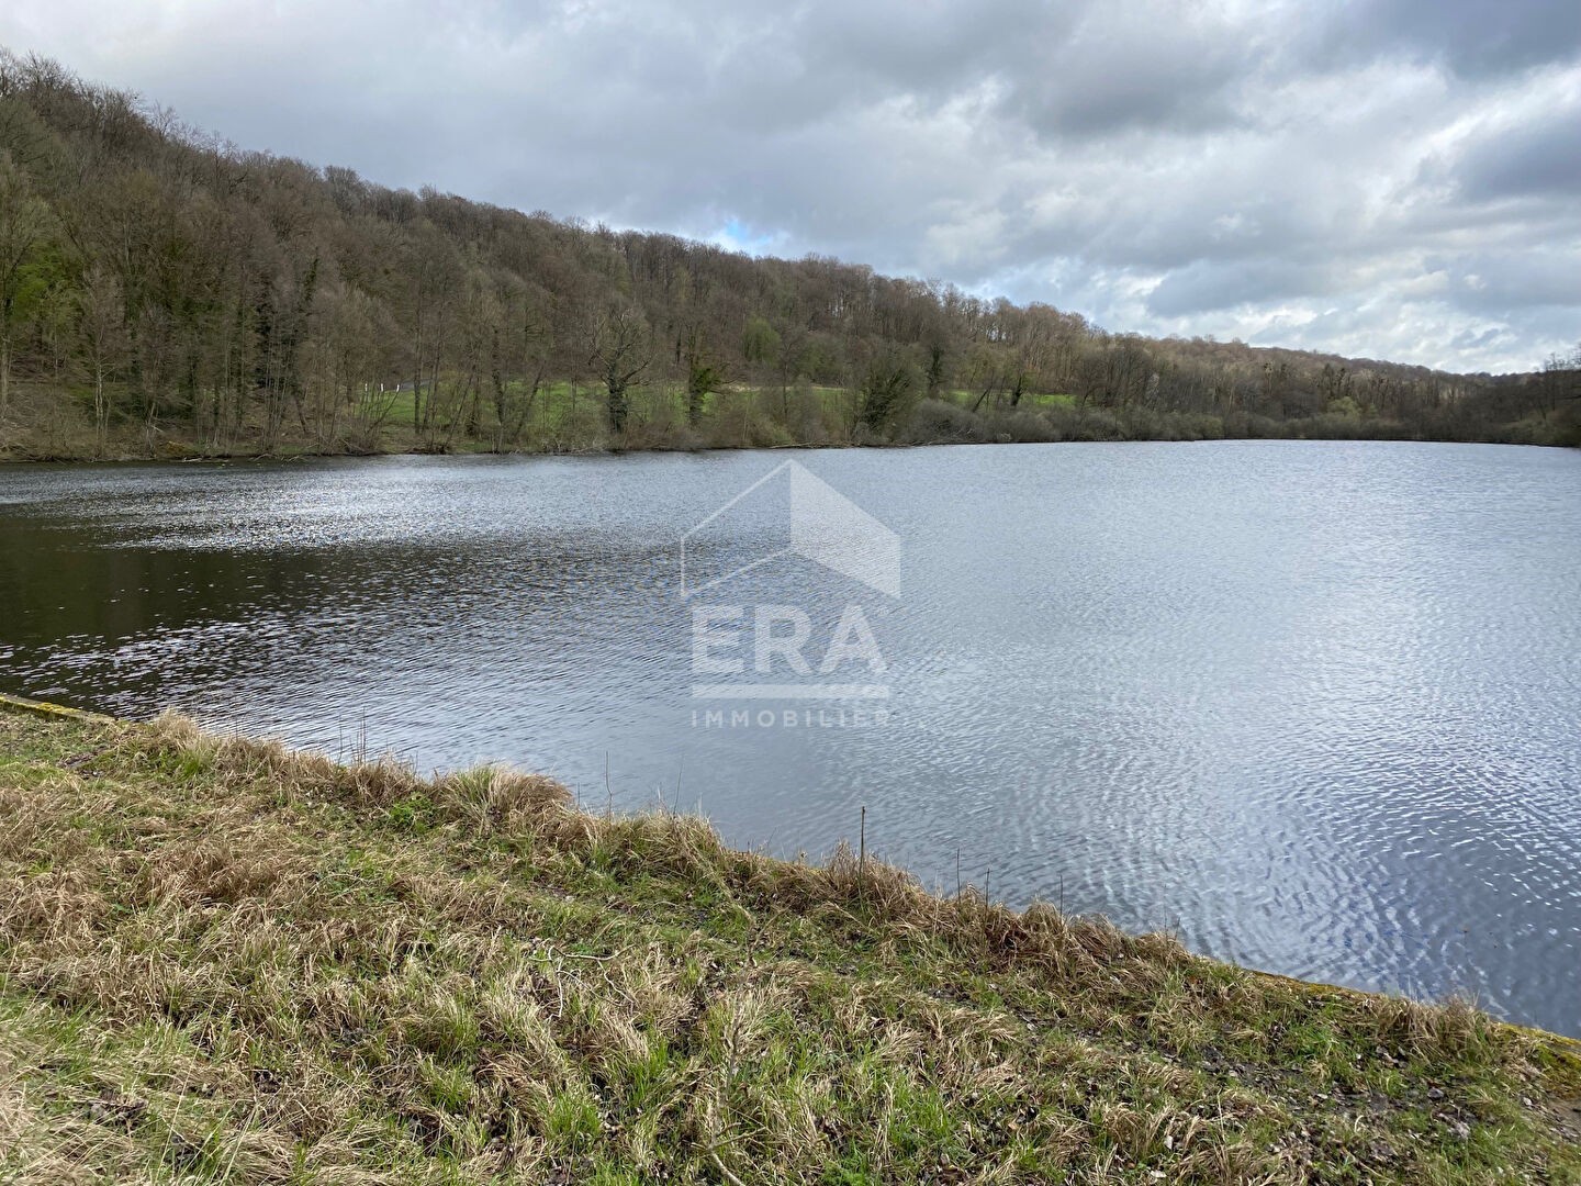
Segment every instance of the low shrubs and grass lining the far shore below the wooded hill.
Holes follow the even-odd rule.
[[[515,398],[523,398],[520,392]],[[9,417],[0,416],[0,462],[196,460],[370,454],[579,454],[602,451],[689,451],[844,448],[911,444],[1004,444],[1053,441],[1205,440],[1445,440],[1510,444],[1581,444],[1581,429],[1562,416],[1489,427],[1445,413],[1432,424],[1320,413],[1270,417],[1247,411],[1189,413],[1149,406],[1080,406],[1070,394],[1026,392],[1020,403],[983,403],[966,391],[941,391],[898,410],[882,427],[860,422],[860,395],[830,386],[783,391],[737,384],[711,392],[692,422],[686,394],[651,384],[629,394],[621,432],[607,422],[604,395],[585,384],[550,383],[530,411],[503,424],[484,403],[476,417],[414,422],[409,391],[381,397],[376,414],[335,408],[291,417],[275,432],[261,421],[199,427],[191,417],[114,421],[103,436],[84,392],[22,387]]]

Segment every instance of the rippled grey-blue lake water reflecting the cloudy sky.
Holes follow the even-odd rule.
[[[705,599],[802,607],[814,659],[865,606],[892,696],[833,707],[889,720],[705,727],[680,536],[787,457],[0,470],[0,688],[504,759],[783,852],[865,805],[933,884],[1581,1034],[1581,454],[794,454],[898,533],[900,599],[795,557]],[[783,542],[772,490],[692,561]]]

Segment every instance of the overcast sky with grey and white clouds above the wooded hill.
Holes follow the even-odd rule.
[[[387,185],[1108,329],[1581,340],[1578,0],[16,0],[0,44]]]

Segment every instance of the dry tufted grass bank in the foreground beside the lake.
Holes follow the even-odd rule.
[[[1559,1039],[542,778],[0,710],[0,1180],[1581,1181]]]

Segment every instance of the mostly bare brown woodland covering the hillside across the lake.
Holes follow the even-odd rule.
[[[1581,346],[1491,376],[1108,332],[386,188],[0,51],[0,459],[1225,436],[1576,446]]]

